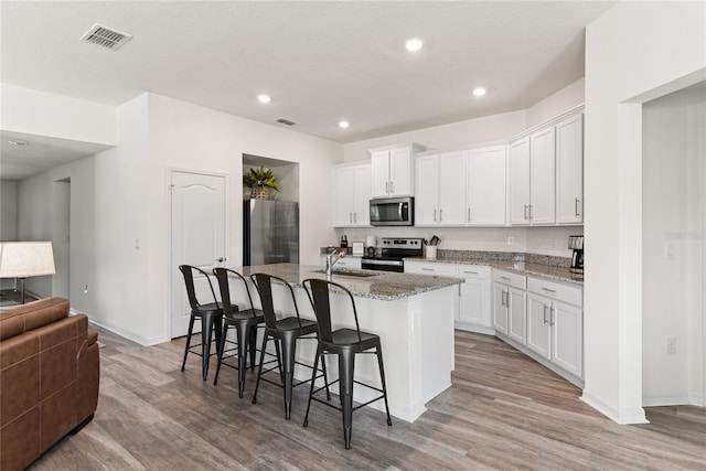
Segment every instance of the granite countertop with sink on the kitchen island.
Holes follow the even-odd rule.
[[[307,278],[327,279],[321,267],[297,264],[258,265],[236,269],[245,277],[264,272],[282,278],[292,286],[301,288]],[[346,275],[347,274],[347,275]],[[355,275],[368,274],[368,277]],[[394,301],[409,298],[427,291],[459,285],[459,278],[429,277],[425,275],[396,274],[388,271],[334,269],[331,281],[347,288],[353,296],[361,298]]]

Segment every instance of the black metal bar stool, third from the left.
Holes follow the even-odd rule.
[[[297,307],[297,300],[295,298],[295,291],[291,286],[281,278],[267,275],[267,274],[253,274],[250,276],[253,282],[257,287],[257,291],[260,295],[260,301],[263,302],[263,313],[265,315],[265,336],[263,338],[263,349],[260,351],[260,366],[257,373],[257,383],[255,384],[255,393],[253,394],[253,404],[257,402],[257,389],[260,384],[260,378],[268,383],[272,383],[268,381],[266,377],[263,377],[264,373],[271,372],[275,368],[269,368],[263,372],[263,365],[265,364],[265,351],[267,350],[267,342],[271,338],[275,341],[275,347],[277,349],[277,357],[279,360],[279,344],[281,343],[281,355],[282,363],[281,365],[278,362],[278,366],[280,367],[280,383],[279,386],[282,386],[285,389],[285,418],[289,420],[291,417],[291,396],[292,388],[295,386],[299,386],[301,384],[308,383],[309,381],[303,381],[295,384],[295,365],[304,365],[303,363],[299,363],[295,360],[295,354],[297,350],[297,340],[299,339],[317,339],[317,322],[309,319],[301,319],[299,315],[299,308]],[[281,283],[288,288],[289,295],[291,297],[291,302],[295,307],[296,315],[282,317],[282,314],[277,314],[275,310],[275,301],[272,298],[272,280],[276,280],[278,283]],[[325,365],[322,365],[322,376],[325,383]],[[320,376],[317,376],[317,370],[314,367],[312,382]],[[327,389],[328,393],[328,389]],[[329,396],[330,398],[330,396]]]

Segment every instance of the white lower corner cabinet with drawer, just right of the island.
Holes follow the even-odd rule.
[[[458,265],[461,283],[457,328],[492,333],[490,267]]]

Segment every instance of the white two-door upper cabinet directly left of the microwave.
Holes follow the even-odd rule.
[[[333,226],[370,226],[371,164],[333,169]]]

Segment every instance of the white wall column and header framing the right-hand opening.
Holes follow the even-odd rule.
[[[587,28],[582,398],[618,422],[642,409],[642,113],[706,67],[705,4],[619,2]],[[686,79],[685,79],[686,77]],[[677,84],[678,82],[678,84]]]

